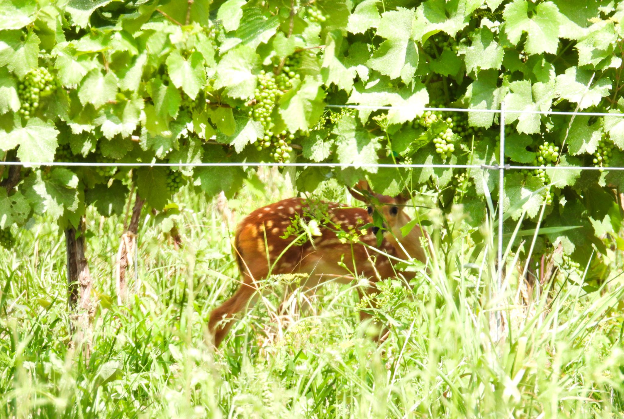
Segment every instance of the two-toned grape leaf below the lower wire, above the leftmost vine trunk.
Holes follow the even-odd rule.
[[[45,176],[41,170],[36,170],[24,180],[24,196],[36,214],[59,219],[66,209],[78,209],[78,182],[76,174],[64,167],[54,167]]]

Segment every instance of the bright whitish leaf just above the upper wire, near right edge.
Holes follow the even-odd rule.
[[[555,92],[558,97],[578,104],[578,109],[597,106],[603,97],[608,96],[611,81],[608,78],[593,79],[592,73],[586,70],[570,67],[565,74],[557,76]]]

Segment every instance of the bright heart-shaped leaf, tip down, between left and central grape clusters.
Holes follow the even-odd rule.
[[[206,71],[203,64],[203,56],[195,51],[188,57],[182,57],[179,51],[173,51],[167,57],[167,70],[175,87],[182,90],[195,100],[198,92],[206,84]]]

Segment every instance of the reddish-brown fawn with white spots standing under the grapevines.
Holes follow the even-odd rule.
[[[372,292],[375,282],[396,276],[393,260],[412,257],[425,262],[426,254],[421,245],[421,236],[425,233],[420,226],[416,225],[405,236],[401,234],[401,227],[410,221],[403,212],[404,199],[371,194],[366,182],[360,182],[356,189],[349,191],[356,199],[366,202],[367,209],[322,203],[326,205],[326,222],[319,225],[320,235],[312,236],[302,244],[291,245],[298,236],[286,237],[285,234],[295,215],[309,221],[306,217],[308,204],[299,198],[284,199],[256,209],[238,225],[234,248],[243,281],[232,297],[210,313],[208,329],[213,333],[215,347],[232,327],[236,313],[243,311],[258,292],[258,281],[270,274],[309,275],[302,284],[306,289],[313,289],[327,280],[349,283],[353,275],[363,275],[370,280]],[[376,237],[379,227],[363,230],[364,225],[372,222],[374,209],[384,219],[381,245]],[[353,243],[339,239],[339,235],[345,232],[361,232],[363,235]],[[394,258],[375,252],[367,245]],[[365,312],[360,316],[362,319],[369,317]]]

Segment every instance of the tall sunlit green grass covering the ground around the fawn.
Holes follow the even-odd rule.
[[[240,219],[290,193],[277,180],[266,188],[250,182],[230,205]],[[336,189],[326,194],[344,199]],[[446,219],[451,232],[436,234],[443,219],[431,210],[424,217],[435,254],[409,287],[380,284],[372,309],[359,300],[361,282],[328,284],[308,313],[284,318],[276,315],[283,279],[270,279],[277,286],[215,353],[208,313],[238,281],[233,226],[200,195],[183,191],[178,202],[180,214],[147,215],[140,225],[139,281],[130,281],[124,306],[114,295],[122,222],[89,212],[100,305],[88,359],[71,345],[62,232],[42,219],[0,254],[0,417],[623,416],[621,267],[590,293],[582,274],[565,286],[560,275],[525,305],[512,257],[496,295],[492,247],[474,246],[477,229],[459,211]],[[174,223],[177,249],[168,235]],[[383,343],[359,322],[360,308],[391,325]],[[492,327],[497,319],[503,333]]]

